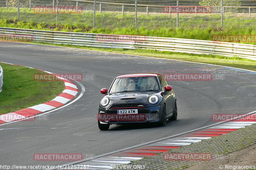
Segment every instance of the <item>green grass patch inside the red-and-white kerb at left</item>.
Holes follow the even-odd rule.
[[[0,65],[4,73],[0,114],[47,102],[64,90],[63,81],[34,81],[33,75],[45,73],[43,71],[6,63]]]

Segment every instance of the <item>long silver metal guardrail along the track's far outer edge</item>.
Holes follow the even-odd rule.
[[[1,40],[5,41],[26,40],[91,47],[155,49],[180,53],[212,54],[228,57],[238,56],[256,60],[256,45],[251,44],[135,35],[57,32],[5,27],[0,27],[0,34]]]

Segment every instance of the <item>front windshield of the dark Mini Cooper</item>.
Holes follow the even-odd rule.
[[[156,77],[116,78],[109,93],[159,91]]]

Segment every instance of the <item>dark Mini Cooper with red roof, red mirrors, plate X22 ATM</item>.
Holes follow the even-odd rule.
[[[177,119],[176,97],[159,73],[125,74],[115,78],[100,100],[97,115],[100,130],[111,124],[157,122]]]

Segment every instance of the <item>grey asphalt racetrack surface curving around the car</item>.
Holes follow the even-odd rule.
[[[94,75],[84,80],[85,93],[75,103],[47,114],[47,120],[20,121],[0,126],[1,165],[61,165],[71,161],[34,161],[35,153],[82,153],[84,158],[168,137],[212,122],[212,114],[255,110],[256,73],[82,49],[0,42],[0,61],[53,73]],[[111,125],[98,129],[96,114],[102,94],[113,79],[134,72],[222,74],[217,81],[167,81],[177,96],[178,120],[165,127]],[[78,85],[79,88],[79,85]],[[1,104],[0,104],[1,106]]]

